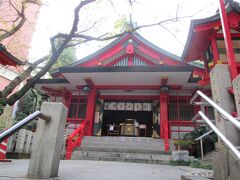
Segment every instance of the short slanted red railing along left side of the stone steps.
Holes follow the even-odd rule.
[[[80,146],[85,135],[86,120],[68,137],[66,159],[71,159],[75,147]]]

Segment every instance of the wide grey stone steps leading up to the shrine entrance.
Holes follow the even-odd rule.
[[[172,141],[170,140],[172,148]],[[171,152],[164,151],[164,140],[144,137],[90,137],[74,150],[74,160],[104,160],[168,164]]]

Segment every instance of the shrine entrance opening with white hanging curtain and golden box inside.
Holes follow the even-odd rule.
[[[152,102],[104,103],[102,136],[152,137]]]

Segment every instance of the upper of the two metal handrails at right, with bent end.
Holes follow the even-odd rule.
[[[219,113],[221,113],[224,117],[226,117],[230,122],[232,122],[238,129],[240,129],[240,122],[237,121],[233,116],[227,113],[224,109],[218,106],[213,100],[203,94],[201,91],[197,91],[196,94],[190,100],[190,103],[193,104],[194,100],[199,96],[201,96],[205,101],[211,104]]]

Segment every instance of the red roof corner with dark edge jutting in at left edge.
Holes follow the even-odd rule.
[[[24,65],[25,63],[10,54],[6,48],[0,44],[0,64],[6,66]]]

